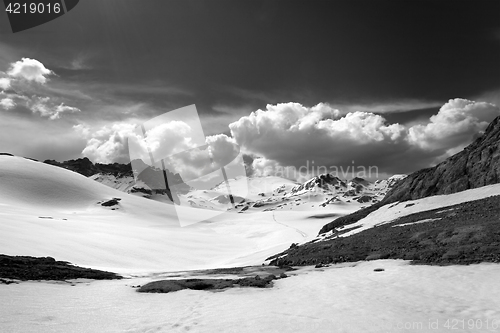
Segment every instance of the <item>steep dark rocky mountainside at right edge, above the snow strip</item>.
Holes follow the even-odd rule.
[[[500,117],[497,117],[481,137],[461,152],[399,181],[383,203],[450,194],[499,182]]]

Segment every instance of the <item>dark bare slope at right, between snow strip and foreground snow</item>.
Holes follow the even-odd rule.
[[[357,215],[368,214],[360,211]],[[335,236],[292,246],[268,260],[276,266],[376,259],[437,265],[499,263],[500,196],[411,214],[349,237]]]

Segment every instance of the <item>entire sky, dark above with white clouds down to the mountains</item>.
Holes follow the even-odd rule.
[[[137,124],[195,104],[256,174],[408,173],[500,115],[499,59],[493,0],[85,0],[16,34],[2,12],[0,152],[127,162]],[[189,148],[176,124],[152,138]]]

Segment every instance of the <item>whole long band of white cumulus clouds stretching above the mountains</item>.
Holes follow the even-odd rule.
[[[171,156],[165,159],[169,168],[186,179],[248,154],[254,157],[249,163],[257,176],[304,180],[319,171],[357,173],[361,166],[375,172],[374,177],[428,167],[463,148],[499,114],[493,104],[452,99],[427,123],[405,126],[370,112],[345,114],[328,104],[283,103],[241,117],[229,125],[231,136],[209,136],[203,147],[183,121],[156,126],[145,140],[130,124],[75,129],[87,139],[83,154],[96,162],[129,162],[131,139],[141,152],[137,157],[147,161],[149,152],[156,159]]]

